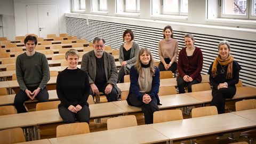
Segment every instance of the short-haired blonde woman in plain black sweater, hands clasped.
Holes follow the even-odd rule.
[[[89,78],[85,71],[77,68],[79,53],[74,49],[66,52],[68,67],[57,77],[57,95],[61,103],[59,113],[65,123],[79,122],[89,124],[90,110],[87,99],[89,97]]]

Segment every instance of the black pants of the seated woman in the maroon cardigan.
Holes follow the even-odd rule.
[[[198,84],[199,82],[197,80],[193,80],[192,82],[185,82],[181,76],[177,79],[177,85],[179,89],[179,93],[185,93],[185,86],[188,86],[188,92],[191,92],[191,85]]]

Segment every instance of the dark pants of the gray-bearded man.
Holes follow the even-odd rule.
[[[107,98],[108,102],[110,102],[110,101],[117,101],[118,93],[117,93],[117,90],[116,90],[116,88],[115,88],[114,86],[113,86],[112,91],[111,91],[109,94],[106,94],[106,93],[104,92],[107,85],[108,85],[108,84],[105,84],[105,85],[102,86],[102,87],[98,87],[98,86],[97,86],[99,92],[102,92],[102,93],[104,93],[104,94],[106,95],[106,98]],[[91,87],[90,87],[90,94],[93,95],[93,92],[92,92]],[[94,95],[93,95],[93,96],[94,96]]]

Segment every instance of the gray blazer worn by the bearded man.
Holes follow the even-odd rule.
[[[118,94],[121,94],[121,90],[117,87],[117,68],[115,64],[115,58],[113,55],[103,52],[104,69],[107,78],[107,83],[112,84]],[[96,78],[96,57],[94,51],[87,52],[83,55],[81,69],[86,71],[89,75],[89,83],[92,84]]]

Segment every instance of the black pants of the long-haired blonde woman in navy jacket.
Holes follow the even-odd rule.
[[[135,107],[141,107],[141,110],[145,117],[145,124],[153,124],[153,114],[158,111],[157,99],[152,99],[148,104],[139,101],[132,93],[128,97],[131,104]]]

